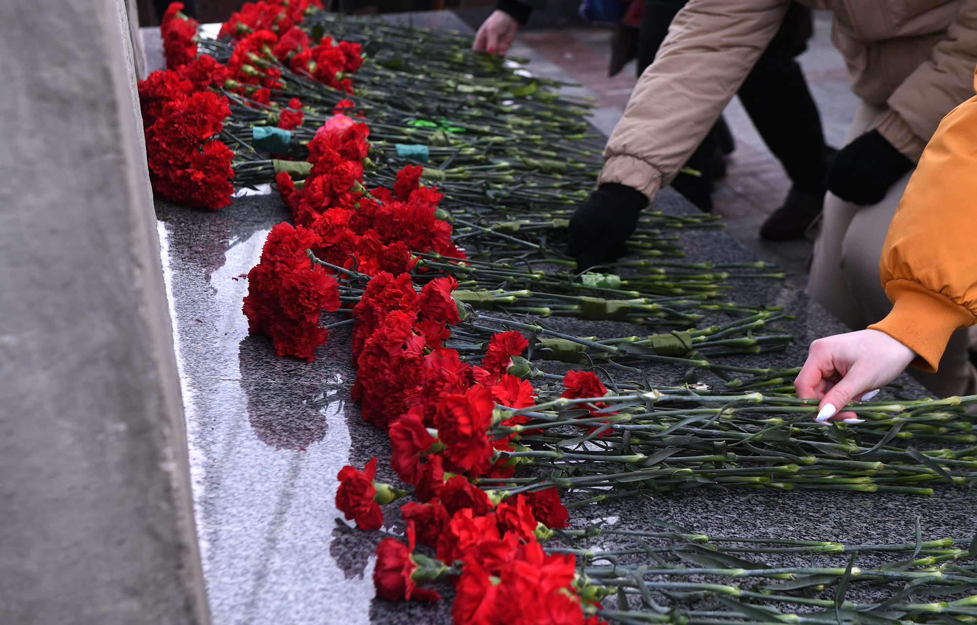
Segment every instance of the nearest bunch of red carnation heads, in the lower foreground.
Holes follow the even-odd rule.
[[[584,618],[573,556],[547,556],[538,542],[550,528],[567,526],[556,489],[497,501],[472,482],[512,477],[516,463],[495,459],[496,450],[513,449],[509,437],[491,437],[490,430],[527,418],[505,419],[496,404],[531,406],[534,393],[508,373],[512,357],[528,347],[520,333],[493,335],[481,365],[445,347],[448,326],[461,319],[451,297],[456,286],[441,277],[417,293],[408,274],[379,273],[353,311],[353,396],[363,418],[387,430],[391,467],[413,485],[416,499],[401,506],[407,545],[388,537],[377,549],[377,595],[437,601],[419,585],[449,577],[459,625],[598,623]],[[339,474],[336,506],[362,529],[380,528],[379,506],[406,494],[375,481],[375,473],[373,458],[363,471],[344,467]],[[435,549],[437,559],[414,553],[415,542]]]

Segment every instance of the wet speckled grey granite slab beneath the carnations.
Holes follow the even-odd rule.
[[[671,189],[659,193],[654,208],[696,210]],[[268,230],[288,217],[277,196],[237,198],[217,213],[157,203],[157,217],[187,413],[197,532],[215,625],[449,623],[453,591],[447,582],[434,587],[444,598],[438,604],[375,599],[373,551],[384,533],[361,531],[335,509],[336,474],[343,465],[362,467],[372,456],[390,457],[386,435],[361,420],[350,398],[355,372],[349,364],[349,327],[334,330],[312,364],[277,358],[269,339],[247,334],[241,313],[244,275],[258,262]],[[690,262],[754,260],[722,230],[690,229],[680,243]],[[803,293],[779,282],[733,283],[731,299],[778,304],[793,313],[795,319],[781,325],[795,340],[786,352],[716,361],[795,366],[812,340],[845,330]],[[585,336],[656,331],[647,325],[566,318],[547,323]],[[563,373],[568,365],[547,362],[541,368]],[[653,382],[665,384],[685,374],[673,365],[646,369]],[[710,381],[708,375],[703,382]],[[901,382],[904,395],[925,395],[906,376]],[[377,479],[399,483],[386,462],[379,463]],[[565,501],[578,498],[571,494]],[[617,529],[654,530],[650,518],[656,517],[715,534],[904,542],[913,540],[916,517],[924,539],[971,536],[975,504],[977,497],[963,488],[937,489],[933,497],[697,489],[582,506],[572,511],[571,523],[575,528],[601,522]],[[385,529],[402,534],[398,504],[384,508]],[[630,544],[604,534],[581,546],[611,550]]]

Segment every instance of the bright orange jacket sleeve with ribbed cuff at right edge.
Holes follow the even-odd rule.
[[[926,146],[882,247],[892,312],[869,327],[936,371],[950,335],[977,322],[977,98],[948,114]]]

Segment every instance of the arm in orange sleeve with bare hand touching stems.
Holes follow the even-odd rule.
[[[950,335],[977,321],[975,197],[977,98],[971,98],[940,123],[889,226],[879,275],[892,311],[867,330],[811,344],[794,383],[797,396],[821,399],[828,414],[908,364],[937,370]],[[832,418],[848,415],[854,416]]]

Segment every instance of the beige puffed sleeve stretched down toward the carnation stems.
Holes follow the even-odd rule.
[[[977,0],[975,0],[977,1]],[[638,80],[604,149],[598,184],[654,199],[740,89],[784,19],[789,0],[692,0]]]

